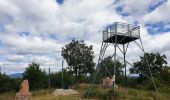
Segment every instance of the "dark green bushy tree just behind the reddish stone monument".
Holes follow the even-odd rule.
[[[42,89],[47,87],[47,77],[45,71],[40,69],[36,63],[29,64],[23,73],[23,78],[28,79],[30,89]]]

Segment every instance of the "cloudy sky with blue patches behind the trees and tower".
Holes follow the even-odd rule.
[[[169,0],[0,0],[1,70],[23,72],[37,62],[58,71],[61,47],[72,38],[93,45],[96,62],[102,31],[113,22],[139,25],[145,51],[165,54],[170,63],[169,9]],[[106,56],[112,53],[109,48]],[[140,55],[131,43],[127,59]]]

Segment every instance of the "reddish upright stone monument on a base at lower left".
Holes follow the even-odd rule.
[[[15,100],[30,100],[32,94],[29,92],[28,80],[24,80],[20,85],[20,90],[16,93]]]

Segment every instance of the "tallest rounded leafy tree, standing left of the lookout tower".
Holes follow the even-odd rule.
[[[84,41],[75,39],[62,48],[62,56],[67,61],[68,69],[76,77],[93,73],[95,64],[92,50],[92,46],[86,46]]]

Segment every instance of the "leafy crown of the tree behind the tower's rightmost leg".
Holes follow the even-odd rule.
[[[135,62],[130,68],[130,73],[139,74],[140,78],[145,80],[147,75],[150,76],[148,65],[153,77],[160,78],[164,69],[167,68],[166,56],[159,53],[145,53],[143,57],[140,57],[140,61]]]

